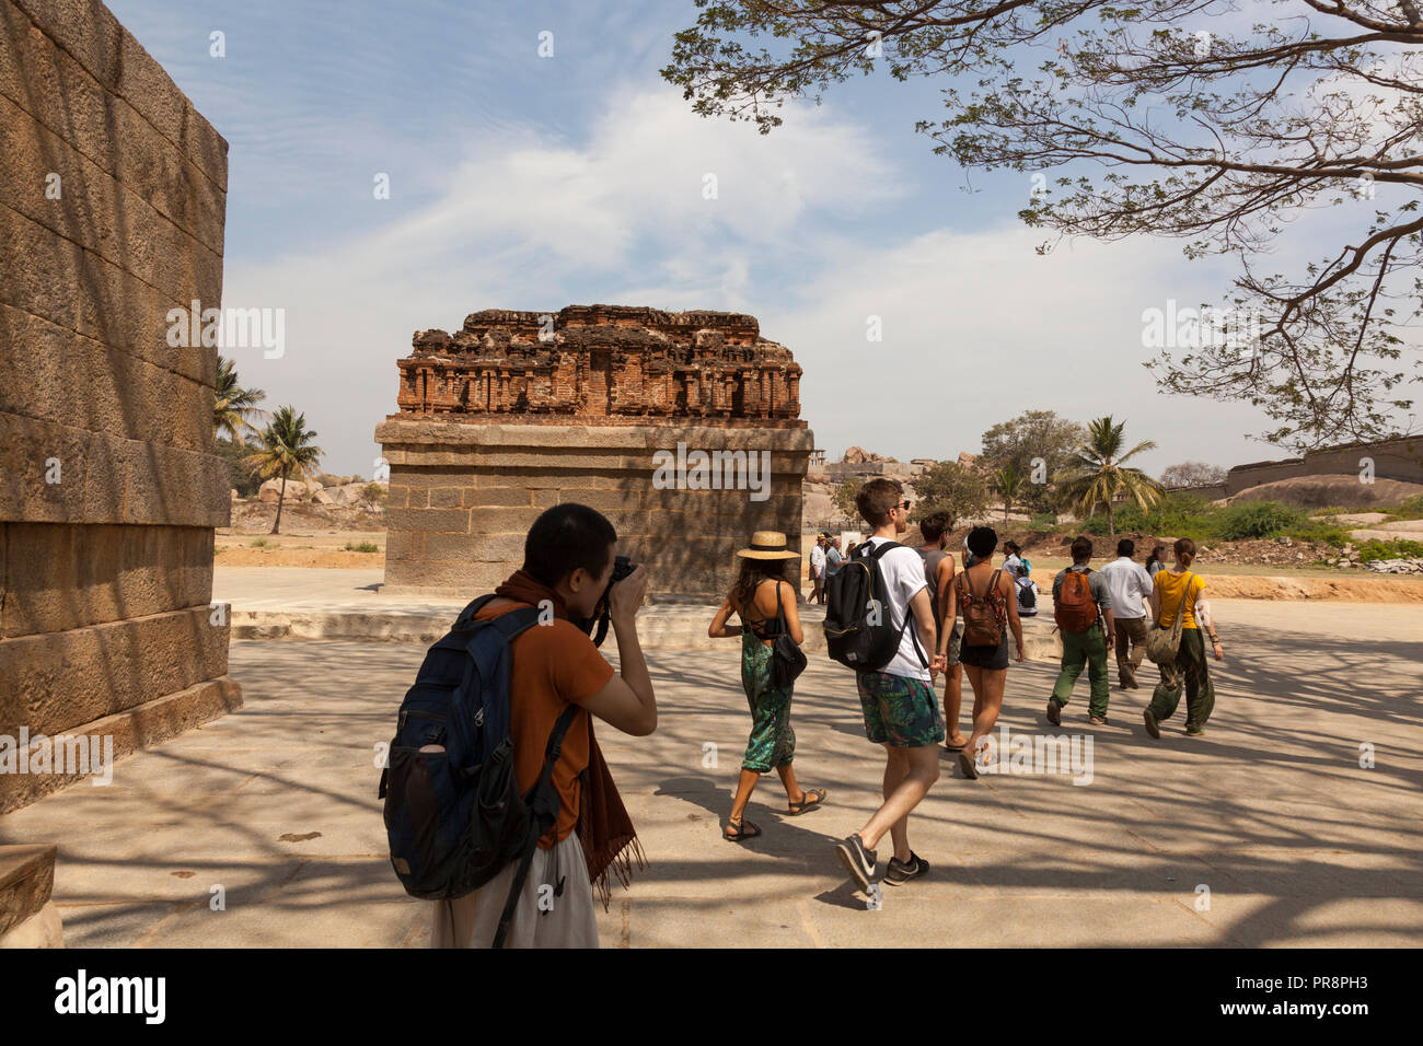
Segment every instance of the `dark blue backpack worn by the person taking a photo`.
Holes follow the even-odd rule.
[[[509,737],[509,645],[538,622],[539,611],[474,620],[491,599],[465,606],[425,653],[400,703],[377,797],[386,800],[390,862],[411,897],[465,897],[519,862],[494,936],[502,948],[538,841],[558,820],[551,778],[576,707],[558,717],[544,770],[521,796]]]

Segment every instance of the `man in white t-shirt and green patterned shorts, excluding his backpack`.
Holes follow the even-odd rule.
[[[855,497],[855,507],[871,527],[869,538],[855,549],[855,559],[909,529],[909,502],[904,500],[904,487],[894,480],[867,482]],[[933,653],[938,635],[924,561],[912,548],[891,548],[879,556],[879,572],[899,649],[884,669],[857,672],[855,680],[865,734],[885,750],[885,801],[864,828],[835,844],[845,870],[865,891],[875,875],[874,847],[885,833],[894,841],[885,885],[898,887],[929,871],[929,862],[909,850],[909,813],[939,780],[943,741],[933,677],[945,670],[946,657]]]

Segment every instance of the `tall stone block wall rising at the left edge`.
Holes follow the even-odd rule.
[[[27,733],[115,756],[240,704],[212,596],[229,521],[216,350],[228,144],[97,0],[0,0],[0,811],[77,780]],[[122,773],[120,770],[120,773]]]

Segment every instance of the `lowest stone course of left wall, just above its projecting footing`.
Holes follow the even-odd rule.
[[[209,606],[0,640],[0,734],[54,734],[228,672]]]

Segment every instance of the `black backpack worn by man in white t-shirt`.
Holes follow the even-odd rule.
[[[885,541],[877,548],[865,541],[827,582],[825,646],[832,660],[855,672],[879,672],[894,660],[914,618],[906,606],[904,625],[898,629],[892,625],[889,591],[879,571],[879,558],[891,548],[905,545]],[[914,649],[928,666],[918,633],[914,633]]]

